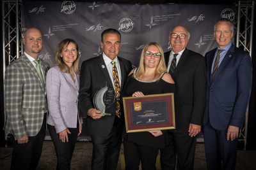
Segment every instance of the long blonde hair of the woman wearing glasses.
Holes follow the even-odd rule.
[[[147,52],[148,46],[150,45],[154,45],[158,48],[159,52],[161,53],[161,57],[159,60],[159,63],[156,67],[155,70],[155,75],[154,75],[154,79],[157,79],[161,76],[162,73],[166,72],[166,64],[164,61],[164,52],[163,52],[163,48],[156,42],[150,42],[147,45],[144,46],[141,55],[140,55],[140,65],[136,71],[136,73],[134,73],[134,76],[136,76],[137,78],[139,78],[143,73],[145,73],[145,62],[144,62],[144,57],[145,57],[145,52]]]

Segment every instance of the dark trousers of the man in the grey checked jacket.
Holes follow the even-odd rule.
[[[36,136],[28,136],[28,143],[18,144],[17,140],[15,141],[13,135],[11,136],[13,141],[11,169],[36,169],[36,166],[38,165],[41,157],[45,138],[45,119],[46,114],[44,116],[44,122],[40,131],[38,134],[36,134]]]

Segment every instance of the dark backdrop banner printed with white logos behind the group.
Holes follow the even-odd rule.
[[[42,31],[40,58],[51,66],[58,43],[74,39],[81,63],[102,53],[100,34],[108,28],[121,36],[120,57],[138,66],[142,48],[150,41],[164,52],[171,49],[168,34],[175,25],[183,25],[191,34],[187,48],[205,55],[215,48],[213,27],[219,18],[235,18],[234,4],[147,4],[97,3],[82,1],[22,1],[22,31],[37,27]],[[49,136],[48,136],[49,138]],[[47,138],[46,138],[47,139]],[[85,127],[79,140],[90,140]]]

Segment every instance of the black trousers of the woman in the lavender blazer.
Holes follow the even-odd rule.
[[[79,132],[77,128],[68,128],[71,134],[68,134],[68,142],[62,142],[59,134],[56,133],[56,129],[54,126],[47,124],[47,127],[50,132],[50,136],[54,143],[56,156],[58,159],[56,169],[70,169],[70,162],[72,159],[72,155],[76,146],[77,134]]]

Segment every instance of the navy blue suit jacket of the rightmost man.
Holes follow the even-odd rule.
[[[207,92],[204,125],[210,120],[214,129],[224,131],[228,125],[243,127],[252,88],[252,62],[248,53],[230,46],[214,79],[211,68],[217,48],[205,54]]]

